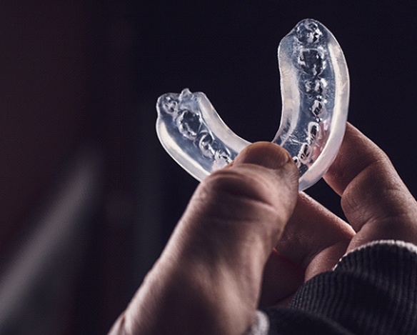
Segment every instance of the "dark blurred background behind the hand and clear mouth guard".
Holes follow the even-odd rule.
[[[156,99],[203,91],[236,134],[271,140],[276,49],[301,19],[338,39],[348,119],[416,195],[415,7],[0,1],[0,334],[109,330],[198,184],[159,144]],[[343,215],[323,181],[308,193]]]

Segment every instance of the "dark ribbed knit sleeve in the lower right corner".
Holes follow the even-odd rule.
[[[353,251],[271,308],[268,334],[417,334],[417,253],[398,243]]]

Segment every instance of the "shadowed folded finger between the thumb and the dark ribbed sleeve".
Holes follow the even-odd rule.
[[[293,215],[265,266],[261,306],[284,306],[285,298],[304,281],[331,270],[354,234],[349,224],[316,200],[298,194]]]

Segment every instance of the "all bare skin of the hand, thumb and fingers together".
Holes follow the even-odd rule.
[[[324,179],[348,223],[302,192],[285,150],[248,146],[196,189],[111,334],[244,334],[256,308],[370,241],[417,244],[417,205],[386,154],[348,124]],[[271,252],[272,250],[272,252]]]

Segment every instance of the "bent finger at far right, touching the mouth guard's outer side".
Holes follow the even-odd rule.
[[[417,242],[415,199],[388,156],[351,124],[324,179],[342,196],[346,218],[362,233],[350,248],[378,239]]]

